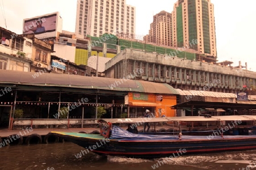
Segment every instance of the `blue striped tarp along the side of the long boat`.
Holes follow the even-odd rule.
[[[255,138],[256,135],[224,135],[225,139],[229,138]],[[123,141],[159,141],[159,140],[179,140],[178,135],[147,135],[147,134],[133,134],[127,130],[123,130],[118,126],[113,126],[112,134],[110,139],[119,139]],[[197,135],[182,135],[182,140],[203,140],[203,139],[221,139],[220,135],[207,135],[207,136],[197,136]]]

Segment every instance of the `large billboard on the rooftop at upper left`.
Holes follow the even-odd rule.
[[[58,13],[36,16],[23,20],[23,34],[34,33],[38,39],[55,37]]]

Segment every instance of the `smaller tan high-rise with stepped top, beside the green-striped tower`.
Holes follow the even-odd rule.
[[[161,11],[154,15],[154,20],[150,24],[150,31],[143,39],[159,45],[172,46],[172,14]]]

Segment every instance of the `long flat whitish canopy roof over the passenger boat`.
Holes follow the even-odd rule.
[[[113,124],[135,124],[143,122],[170,122],[170,121],[256,121],[256,115],[232,116],[183,116],[183,117],[141,117],[141,118],[104,118],[101,119]]]

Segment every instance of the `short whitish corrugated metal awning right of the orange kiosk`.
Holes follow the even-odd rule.
[[[200,91],[200,90],[181,90],[176,89],[179,95],[187,96],[205,96],[205,97],[224,97],[224,98],[236,98],[236,94],[232,93],[222,93],[222,92],[212,92],[212,91]]]

